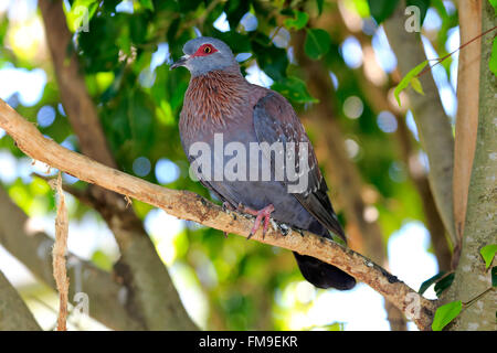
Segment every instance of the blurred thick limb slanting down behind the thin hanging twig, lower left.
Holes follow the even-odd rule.
[[[53,239],[43,233],[28,234],[28,216],[0,188],[0,244],[36,278],[55,290],[52,253]],[[70,300],[76,290],[88,296],[88,314],[114,330],[145,330],[144,322],[129,315],[127,289],[113,276],[73,254],[67,256]],[[77,282],[80,281],[80,284]],[[1,298],[1,297],[0,297]]]

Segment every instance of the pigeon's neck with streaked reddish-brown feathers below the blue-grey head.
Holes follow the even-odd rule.
[[[184,95],[182,125],[198,129],[218,129],[229,120],[240,117],[241,109],[247,103],[248,83],[240,74],[211,71],[194,76]]]

